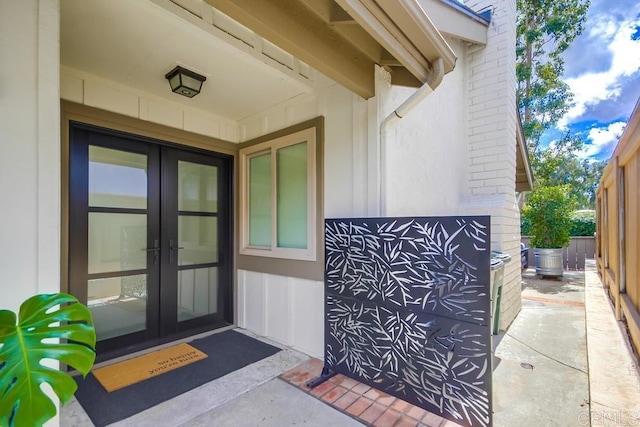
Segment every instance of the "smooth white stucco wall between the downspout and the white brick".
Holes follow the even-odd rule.
[[[456,67],[388,133],[384,159],[388,216],[460,213],[468,180],[466,48],[458,41],[448,42],[458,57]],[[378,82],[383,120],[415,89]]]

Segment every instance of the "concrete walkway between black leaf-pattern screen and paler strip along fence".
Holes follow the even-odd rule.
[[[524,272],[522,310],[494,339],[496,426],[587,425],[584,272],[565,272],[562,280]]]

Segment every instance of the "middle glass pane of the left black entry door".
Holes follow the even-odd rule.
[[[89,213],[89,274],[147,268],[147,215]]]

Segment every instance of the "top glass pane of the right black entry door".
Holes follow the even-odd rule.
[[[218,212],[218,168],[178,162],[178,210]]]

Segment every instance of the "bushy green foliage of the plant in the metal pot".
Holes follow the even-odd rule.
[[[564,248],[571,240],[571,213],[574,201],[567,186],[539,187],[527,200],[522,215],[531,224],[531,246],[540,249]]]

